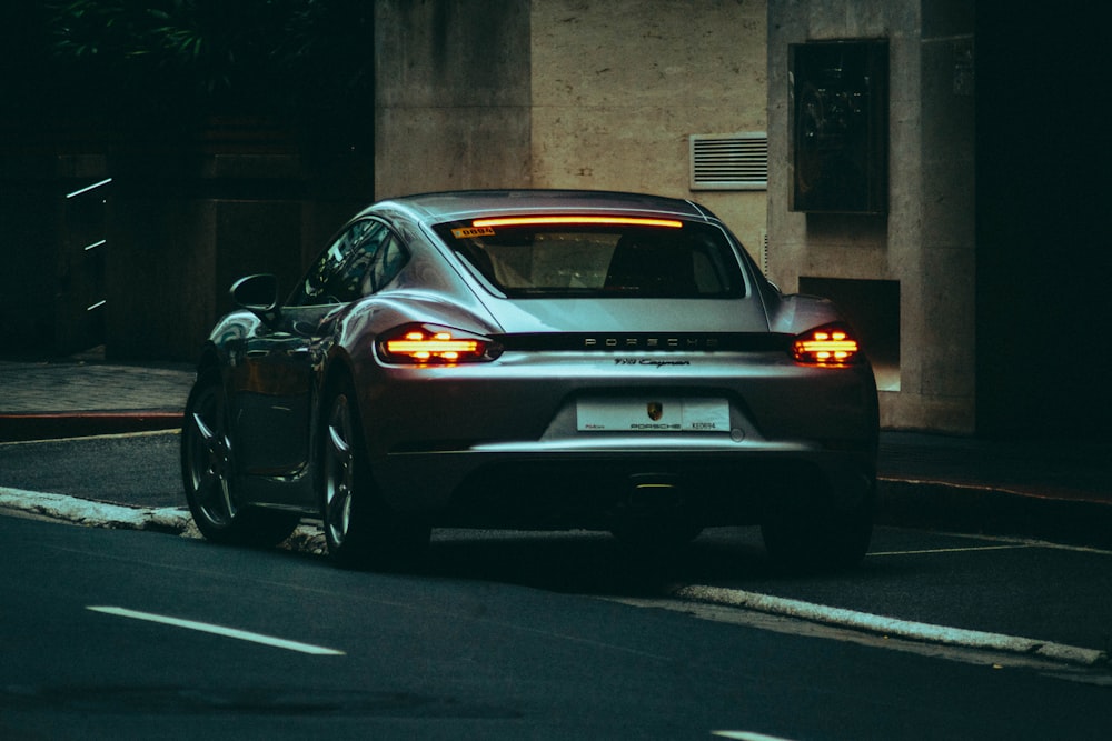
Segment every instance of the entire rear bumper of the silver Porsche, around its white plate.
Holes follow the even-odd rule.
[[[365,387],[371,471],[396,510],[445,525],[607,528],[646,492],[679,500],[705,525],[743,524],[785,505],[847,510],[872,495],[867,366],[807,368],[782,353],[666,359],[684,364],[564,353],[390,369]],[[662,399],[715,400],[728,423],[596,432],[577,420],[584,400],[597,399],[646,413]],[[661,485],[633,483],[653,477]]]

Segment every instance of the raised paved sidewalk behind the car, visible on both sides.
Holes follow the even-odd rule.
[[[0,443],[177,429],[192,380],[186,363],[0,361]],[[1112,548],[1112,441],[884,431],[877,489],[885,524]]]

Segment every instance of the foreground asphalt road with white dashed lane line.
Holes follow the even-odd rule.
[[[1112,690],[1054,672],[157,533],[0,539],[7,739],[1106,738]]]

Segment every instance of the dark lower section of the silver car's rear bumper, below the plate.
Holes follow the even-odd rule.
[[[391,455],[378,469],[379,483],[397,510],[437,525],[608,529],[676,508],[704,527],[756,524],[784,509],[856,509],[875,482],[872,449],[631,450],[617,441],[512,448]]]

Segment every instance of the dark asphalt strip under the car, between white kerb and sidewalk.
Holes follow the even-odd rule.
[[[132,507],[183,507],[173,433],[0,444],[0,487]],[[647,568],[604,534],[436,531],[429,572],[537,589],[652,598],[711,585],[1112,653],[1112,553],[878,528],[864,564],[787,577],[755,529],[712,530]]]

